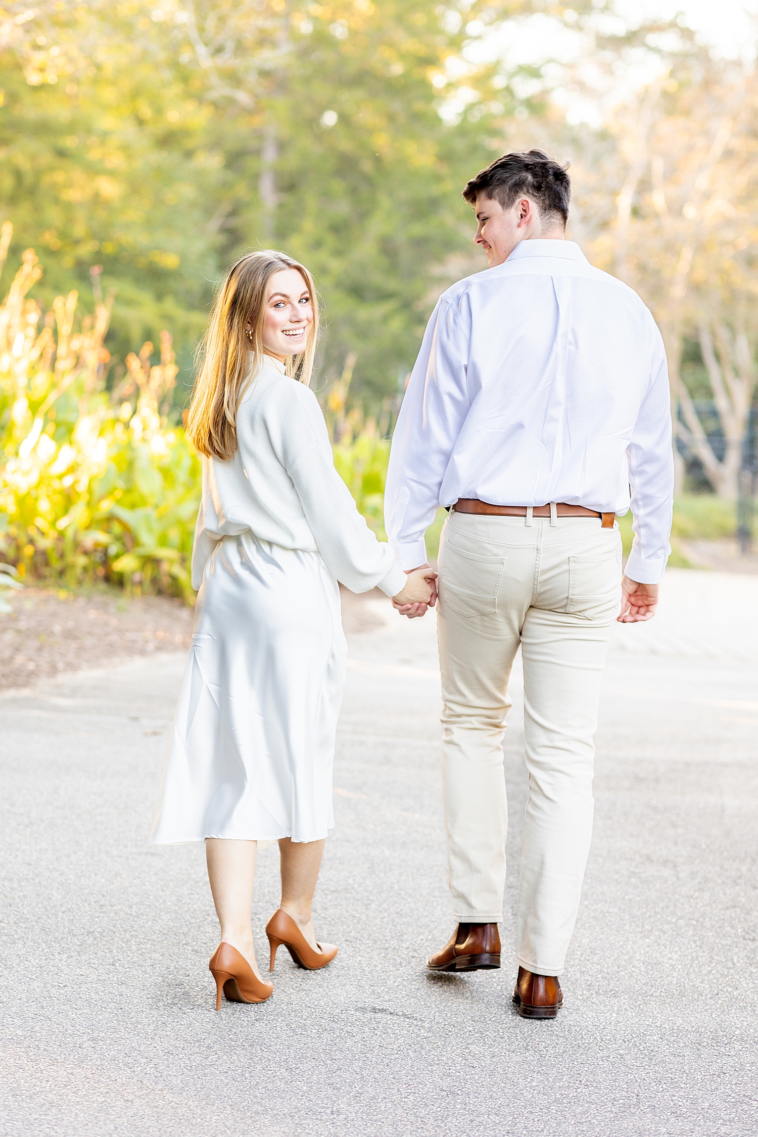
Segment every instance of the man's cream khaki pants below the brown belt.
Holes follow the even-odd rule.
[[[516,954],[557,976],[592,835],[593,735],[620,603],[618,528],[594,517],[451,513],[440,545],[442,781],[456,920],[502,919],[508,821],[502,739],[522,646],[530,797]]]

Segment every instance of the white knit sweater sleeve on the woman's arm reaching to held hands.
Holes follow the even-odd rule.
[[[292,479],[303,513],[330,572],[353,592],[378,588],[397,596],[406,574],[389,545],[378,541],[358,513],[336,470],[316,396],[301,383],[277,384],[280,460]]]

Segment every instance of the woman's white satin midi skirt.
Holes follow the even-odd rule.
[[[345,657],[319,554],[225,537],[198,594],[150,841],[326,837]]]

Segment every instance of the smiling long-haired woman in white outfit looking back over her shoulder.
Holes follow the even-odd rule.
[[[256,962],[250,906],[258,844],[278,841],[282,902],[266,928],[305,968],[332,813],[332,760],[347,645],[338,581],[406,605],[431,597],[380,543],[334,470],[309,390],[318,308],[310,273],[282,252],[242,257],[210,315],[188,417],[203,455],[192,554],[199,588],[151,841],[206,841],[220,923],[216,1009],[273,991]]]

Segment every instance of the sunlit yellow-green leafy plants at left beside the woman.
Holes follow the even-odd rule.
[[[189,601],[200,463],[167,418],[170,335],[156,365],[151,343],[131,354],[109,392],[109,304],[77,322],[72,292],[45,314],[27,298],[40,275],[30,249],[0,308],[0,550],[22,579],[113,580]]]

